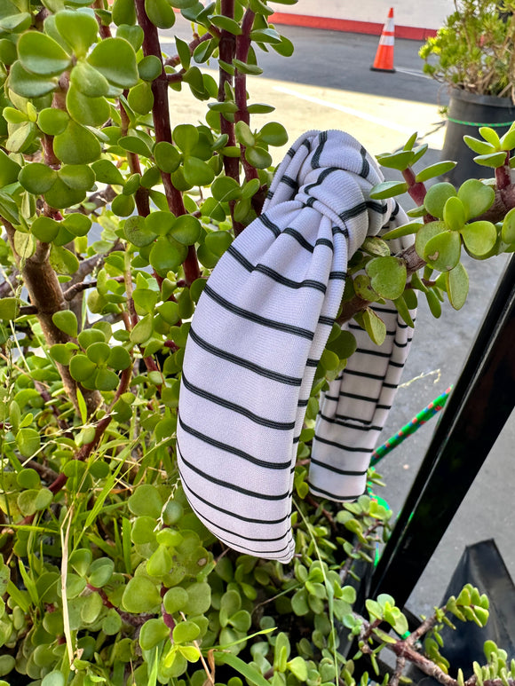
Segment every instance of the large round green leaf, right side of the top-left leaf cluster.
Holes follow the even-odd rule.
[[[120,88],[131,88],[138,83],[136,53],[131,43],[123,38],[105,38],[97,43],[88,62],[99,70],[107,81]]]

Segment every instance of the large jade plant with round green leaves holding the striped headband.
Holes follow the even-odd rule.
[[[371,470],[369,493],[345,505],[308,493],[318,398],[353,353],[351,334],[335,326],[307,406],[292,564],[225,548],[180,485],[189,320],[219,257],[261,212],[270,148],[288,138],[272,116],[251,123],[273,106],[247,92],[259,51],[293,51],[272,13],[266,0],[0,1],[2,686],[395,685],[407,660],[464,683],[447,674],[440,627],[484,626],[487,597],[465,587],[411,634],[389,595],[360,612],[355,589],[392,516],[375,494],[381,478]],[[178,20],[191,40],[164,51],[159,31]],[[205,115],[172,128],[183,91]],[[379,156],[403,180],[375,197],[408,191],[420,221],[365,241],[340,323],[354,318],[382,343],[371,303],[392,300],[412,325],[424,294],[439,316],[445,294],[464,304],[465,251],[515,247],[515,133],[483,136],[470,144],[495,167],[491,184],[426,191],[454,163],[414,171],[425,152],[416,134]],[[403,233],[415,247],[392,255],[388,239]],[[390,675],[383,650],[396,656]],[[515,666],[488,642],[471,674],[468,686],[511,686]]]

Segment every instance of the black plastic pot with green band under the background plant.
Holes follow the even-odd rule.
[[[511,98],[495,98],[489,95],[476,95],[468,91],[451,91],[448,122],[445,134],[442,160],[458,162],[454,170],[445,175],[451,184],[460,185],[467,178],[493,176],[493,171],[480,167],[472,158],[477,155],[464,144],[464,136],[479,136],[479,127],[491,126],[503,136],[515,121],[515,105]]]

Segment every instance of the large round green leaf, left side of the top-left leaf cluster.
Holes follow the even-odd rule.
[[[71,66],[71,59],[59,43],[39,31],[20,35],[18,57],[28,72],[40,76],[61,75]]]

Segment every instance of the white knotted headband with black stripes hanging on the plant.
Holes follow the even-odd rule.
[[[186,344],[178,468],[195,513],[244,553],[289,562],[297,443],[313,376],[341,304],[347,261],[367,236],[408,221],[352,136],[310,131],[289,149],[263,214],[213,270]],[[394,250],[401,245],[393,245]],[[354,499],[408,353],[408,328],[378,305],[380,347],[350,325],[358,350],[321,398],[309,481]]]

